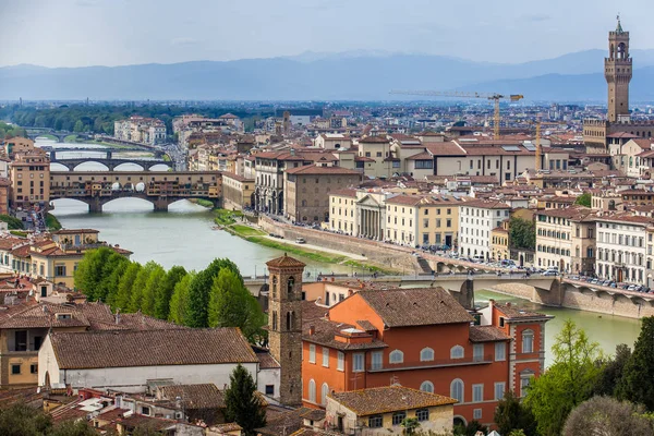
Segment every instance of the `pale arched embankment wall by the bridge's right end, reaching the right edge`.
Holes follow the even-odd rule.
[[[566,308],[578,311],[595,312],[605,315],[623,316],[628,318],[642,318],[644,316],[654,316],[654,306],[652,302],[641,296],[629,299],[620,293],[614,295],[607,292],[592,292],[590,290],[580,291],[579,289],[565,284],[562,286],[562,298],[560,304],[552,304],[547,301],[544,292],[537,292],[533,287],[520,283],[507,283],[493,287],[497,291],[507,295],[529,300],[533,303],[545,305],[559,305]]]

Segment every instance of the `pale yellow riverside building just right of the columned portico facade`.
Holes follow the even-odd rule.
[[[448,245],[457,240],[459,207],[449,195],[396,195],[386,201],[386,241],[409,245]]]

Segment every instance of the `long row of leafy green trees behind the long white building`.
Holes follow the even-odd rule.
[[[245,288],[239,267],[227,258],[189,274],[181,266],[167,271],[155,262],[141,265],[101,247],[84,255],[75,287],[112,310],[141,311],[189,327],[239,327],[253,343],[266,336],[258,302]]]

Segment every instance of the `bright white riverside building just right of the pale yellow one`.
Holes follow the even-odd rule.
[[[509,218],[511,207],[500,201],[477,199],[459,207],[459,254],[491,258],[491,232]]]

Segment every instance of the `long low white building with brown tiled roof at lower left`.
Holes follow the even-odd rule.
[[[237,328],[51,332],[38,353],[38,384],[125,392],[156,379],[222,387],[239,363],[257,382],[259,361]]]

